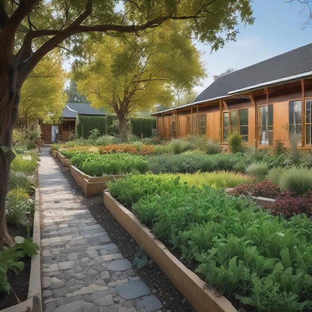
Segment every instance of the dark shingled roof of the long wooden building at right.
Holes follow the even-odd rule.
[[[312,71],[312,43],[219,77],[192,103],[228,92]]]

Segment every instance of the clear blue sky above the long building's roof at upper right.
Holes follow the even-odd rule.
[[[202,52],[208,78],[200,93],[228,68],[241,69],[312,42],[312,25],[306,25],[308,11],[298,1],[254,0],[253,25],[240,25],[236,42],[227,42],[222,49],[211,52],[209,45],[197,43]],[[305,27],[306,26],[306,27]]]

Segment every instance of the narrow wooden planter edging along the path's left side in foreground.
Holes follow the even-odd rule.
[[[36,189],[36,205],[33,219],[33,241],[40,248],[40,217],[39,217],[39,192]],[[38,255],[31,258],[31,269],[28,285],[27,300],[18,305],[1,310],[1,312],[42,312],[41,303],[41,275],[40,275],[40,249]]]

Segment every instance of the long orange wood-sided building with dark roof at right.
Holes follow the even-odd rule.
[[[192,103],[152,114],[158,137],[204,135],[227,145],[233,132],[256,147],[312,149],[312,43],[218,77]]]

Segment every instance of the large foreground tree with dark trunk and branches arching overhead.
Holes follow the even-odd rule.
[[[0,0],[0,242],[12,244],[5,223],[12,131],[20,88],[56,47],[79,52],[85,34],[137,33],[181,20],[213,49],[234,40],[242,20],[252,23],[249,0]],[[81,34],[81,35],[79,35]]]

